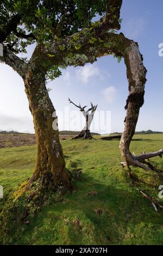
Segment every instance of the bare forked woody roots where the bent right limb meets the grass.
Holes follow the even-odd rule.
[[[152,157],[156,157],[159,156],[162,158],[162,154],[163,154],[163,150],[159,150],[153,153],[145,153],[143,152],[142,154],[140,154],[139,156],[136,156],[134,153],[133,154],[128,154],[125,158],[126,158],[126,162],[121,162],[122,165],[122,169],[127,166],[127,169],[130,173],[130,165],[133,165],[134,167],[140,167],[146,171],[151,171],[154,169],[154,166],[147,162],[146,159],[149,161],[149,158]],[[146,165],[147,166],[146,166]]]

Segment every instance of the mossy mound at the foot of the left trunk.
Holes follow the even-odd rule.
[[[63,198],[62,186],[55,186],[52,177],[44,176],[43,179],[24,181],[17,186],[5,203],[0,215],[1,236],[4,244],[12,244],[19,237],[23,225],[27,225],[36,216],[36,213],[45,205],[54,204]],[[51,182],[49,182],[51,181]],[[47,183],[46,183],[47,182]],[[14,236],[15,241],[11,240]]]

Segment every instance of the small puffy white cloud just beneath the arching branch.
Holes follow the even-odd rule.
[[[76,75],[79,80],[87,84],[90,78],[95,76],[101,76],[99,69],[95,67],[93,64],[85,65],[76,70]]]

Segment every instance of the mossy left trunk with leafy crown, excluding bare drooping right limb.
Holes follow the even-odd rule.
[[[111,2],[5,0],[0,3],[3,46],[0,61],[14,69],[24,81],[37,140],[34,174],[26,184],[27,189],[35,182],[49,190],[73,187],[65,169],[58,128],[52,128],[57,116],[46,81],[58,77],[60,67],[83,66],[96,60],[96,43],[104,47],[100,35],[108,29],[120,28],[121,1]],[[104,17],[92,23],[96,14]],[[26,47],[33,43],[36,47],[29,61],[16,55],[26,52]]]

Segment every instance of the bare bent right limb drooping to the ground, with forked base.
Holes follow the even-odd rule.
[[[124,132],[120,141],[120,150],[122,157],[126,159],[123,166],[127,166],[130,174],[130,165],[139,166],[145,170],[151,170],[151,164],[145,161],[149,154],[141,154],[136,156],[131,154],[129,150],[130,141],[135,133],[136,123],[139,117],[139,110],[144,102],[145,83],[146,83],[146,68],[143,66],[143,59],[139,52],[138,45],[134,41],[130,41],[128,51],[124,54],[124,61],[127,67],[127,78],[129,81],[129,96],[125,109],[127,115],[124,120]],[[151,157],[161,156],[163,150],[150,153]],[[148,166],[144,165],[147,164]]]

